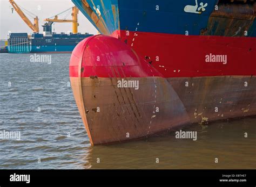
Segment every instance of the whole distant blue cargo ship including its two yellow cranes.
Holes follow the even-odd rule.
[[[78,33],[78,12],[79,10],[73,6],[72,8],[59,13],[51,18],[46,18],[43,25],[43,34],[39,33],[38,17],[32,12],[20,7],[14,0],[9,0],[12,5],[12,13],[15,10],[22,18],[26,25],[33,31],[30,36],[28,33],[9,33],[8,38],[8,52],[9,53],[71,53],[75,46],[83,39],[92,36],[92,34]],[[59,19],[59,16],[72,10],[72,19]],[[32,23],[26,13],[34,15],[34,22]],[[67,16],[67,15],[66,15]],[[57,34],[52,32],[53,23],[72,23],[72,33]]]

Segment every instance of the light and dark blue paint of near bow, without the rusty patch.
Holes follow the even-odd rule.
[[[83,8],[83,2],[80,0],[72,0],[72,2],[93,23],[92,18],[87,15]],[[200,30],[207,27],[208,18],[217,2],[218,0],[198,1],[198,8],[200,7],[199,3],[203,3],[203,5],[207,3],[205,11],[199,14],[184,11],[186,5],[196,5],[194,0],[87,1],[96,15],[100,12],[98,17],[104,20],[109,33],[115,30],[137,30],[141,32],[185,34],[185,31],[189,31],[190,35],[199,35]],[[116,8],[113,9],[112,6],[116,6]],[[119,24],[117,21],[119,21]]]

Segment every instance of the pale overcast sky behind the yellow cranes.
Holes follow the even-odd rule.
[[[29,10],[33,14],[38,16],[39,19],[39,32],[43,32],[41,25],[44,24],[44,19],[57,15],[58,13],[71,8],[74,6],[71,0],[15,0],[15,2]],[[14,10],[14,13],[11,11],[11,4],[8,0],[0,0],[0,39],[7,39],[8,32],[26,32],[32,33],[32,30],[28,25],[24,23],[18,13]],[[25,13],[26,15],[26,13]],[[30,21],[33,23],[33,18],[26,15]],[[59,19],[63,19],[63,16],[60,16]],[[71,19],[71,13],[66,19]],[[85,33],[89,32],[90,34],[97,34],[96,28],[86,19],[86,17],[79,12],[78,14],[78,32]],[[55,32],[72,32],[72,23],[55,23],[53,25]],[[53,31],[52,28],[52,31]]]

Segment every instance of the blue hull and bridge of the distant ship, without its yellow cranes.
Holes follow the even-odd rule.
[[[51,32],[51,24],[43,25],[43,34],[10,33],[8,39],[9,53],[71,53],[76,45],[92,34]]]

